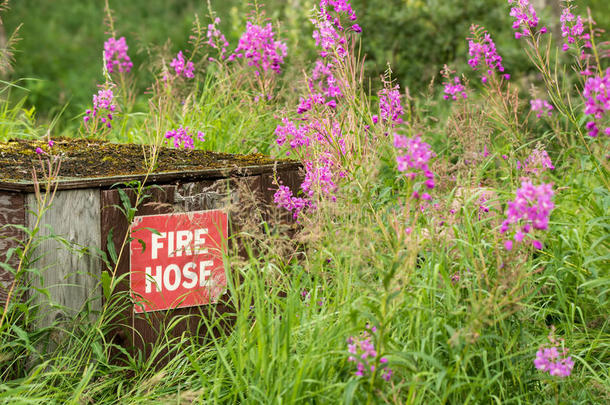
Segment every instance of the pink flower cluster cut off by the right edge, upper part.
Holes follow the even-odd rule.
[[[593,120],[586,124],[587,130],[589,136],[596,137],[601,120],[610,111],[610,68],[606,69],[603,77],[588,78],[582,94],[585,98],[585,114],[593,116]],[[610,136],[610,125],[605,127],[604,133]]]

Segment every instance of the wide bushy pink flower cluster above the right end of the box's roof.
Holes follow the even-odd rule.
[[[248,66],[256,69],[255,74],[257,76],[268,70],[279,74],[281,72],[280,66],[284,63],[284,57],[287,53],[286,44],[276,41],[274,36],[275,33],[271,24],[261,27],[248,21],[246,30],[239,38],[237,48],[228,60],[247,60]]]

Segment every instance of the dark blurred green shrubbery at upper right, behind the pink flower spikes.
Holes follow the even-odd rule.
[[[368,55],[369,72],[379,76],[389,62],[401,84],[415,91],[437,77],[445,63],[457,62],[464,70],[466,37],[473,22],[489,27],[499,49],[512,45],[498,42],[513,39],[504,0],[388,0],[384,7],[378,1],[356,3],[362,10],[363,48]],[[505,64],[508,70],[512,70],[511,64],[525,64],[525,55],[517,56],[516,60],[507,58],[511,61]]]

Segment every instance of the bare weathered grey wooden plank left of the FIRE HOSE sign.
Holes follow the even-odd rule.
[[[26,195],[26,204],[30,210],[36,209],[34,194]],[[28,227],[33,226],[35,218],[32,212],[27,214]],[[52,235],[65,238],[70,246]],[[39,276],[32,276],[31,284],[34,288],[44,288],[50,296],[49,301],[45,295],[32,290],[32,298],[40,304],[43,314],[39,326],[71,318],[85,305],[92,313],[99,311],[101,260],[96,253],[102,247],[99,190],[57,192],[42,217],[37,237],[44,240],[34,251],[39,257],[35,264]]]

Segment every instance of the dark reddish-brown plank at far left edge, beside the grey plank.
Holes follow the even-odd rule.
[[[13,255],[6,260],[9,249],[16,248],[24,240],[25,234],[10,225],[25,226],[25,200],[21,193],[0,191],[0,261],[13,269],[19,265],[19,257]],[[0,304],[6,303],[8,290],[13,284],[13,273],[0,267]]]

